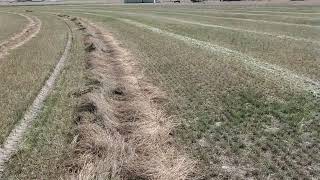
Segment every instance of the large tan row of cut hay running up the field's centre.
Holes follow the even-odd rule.
[[[88,84],[94,87],[78,107],[66,179],[186,179],[193,161],[173,145],[175,122],[157,104],[163,93],[110,33],[87,20],[76,24],[87,33]]]

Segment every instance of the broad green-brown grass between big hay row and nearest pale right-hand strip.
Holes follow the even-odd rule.
[[[313,167],[318,161],[314,114],[319,103],[313,97],[247,72],[232,58],[114,19],[87,17],[112,27],[139,57],[148,77],[168,92],[168,113],[183,122],[176,137],[201,161],[206,178],[318,174]],[[310,149],[305,136],[310,136]]]

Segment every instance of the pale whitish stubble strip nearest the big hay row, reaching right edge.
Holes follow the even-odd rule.
[[[87,13],[84,13],[87,14]],[[106,15],[99,15],[90,13],[90,15],[102,16],[102,17],[111,17]],[[112,18],[112,17],[111,17]],[[218,52],[224,54],[226,56],[237,57],[244,65],[248,66],[251,70],[258,74],[264,74],[266,78],[272,77],[277,81],[284,80],[288,83],[289,86],[297,89],[311,92],[314,96],[320,96],[320,83],[303,75],[298,75],[295,72],[292,72],[288,69],[285,69],[281,66],[277,66],[274,64],[269,64],[266,62],[261,62],[251,56],[238,52],[236,50],[231,50],[228,48],[221,47],[219,45],[215,45],[212,43],[200,41],[197,39],[193,39],[190,37],[182,36],[179,34],[171,33],[168,31],[164,31],[143,23],[139,23],[133,20],[124,19],[124,18],[116,18],[122,22],[126,22],[144,29],[151,30],[152,32],[163,34],[178,40],[181,40],[187,44],[200,47],[203,49],[207,49],[212,52]]]

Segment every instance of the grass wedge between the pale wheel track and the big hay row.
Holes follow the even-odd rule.
[[[86,82],[82,36],[74,32],[71,58],[21,150],[8,164],[5,179],[59,179],[66,171],[63,163],[75,130],[73,108],[79,101],[73,94]]]

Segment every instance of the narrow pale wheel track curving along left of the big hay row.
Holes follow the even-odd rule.
[[[40,24],[38,25],[36,26],[40,27]],[[34,33],[29,34],[29,36],[25,36],[27,38],[25,38],[24,40],[26,41],[27,39],[30,39],[33,35]],[[12,44],[12,46],[18,46],[18,45],[19,44],[15,44],[15,45]],[[0,148],[0,178],[2,176],[2,172],[4,171],[5,162],[8,161],[11,158],[11,156],[17,152],[20,144],[23,141],[24,134],[30,128],[32,122],[41,111],[44,101],[48,97],[50,91],[53,89],[55,81],[58,78],[60,72],[62,71],[65,61],[67,60],[67,56],[71,49],[71,45],[72,45],[72,35],[70,31],[68,34],[68,41],[65,46],[64,53],[62,54],[59,62],[57,63],[53,73],[50,75],[49,79],[45,82],[45,85],[42,87],[36,99],[33,101],[31,107],[24,114],[23,119],[21,119],[19,124],[9,134],[6,141],[3,143],[3,148]]]

